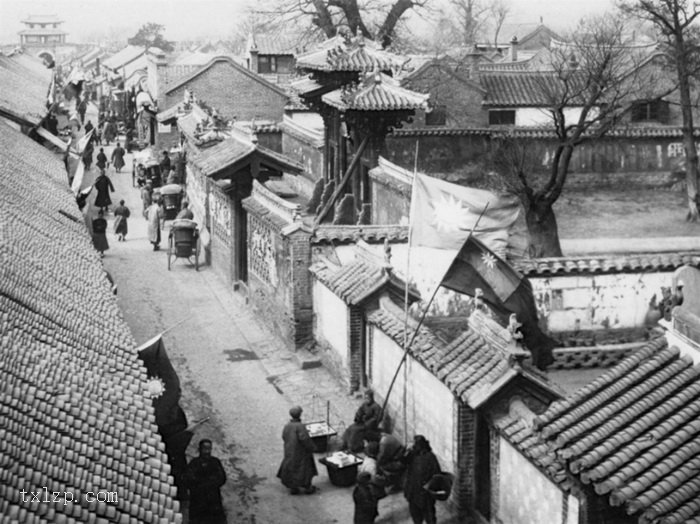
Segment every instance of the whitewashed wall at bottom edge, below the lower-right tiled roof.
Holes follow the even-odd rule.
[[[565,494],[505,439],[499,444],[497,522],[502,524],[578,524],[563,517]],[[571,510],[571,505],[576,510]],[[569,515],[578,501],[569,500]]]

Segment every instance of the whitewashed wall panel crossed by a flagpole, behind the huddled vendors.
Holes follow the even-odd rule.
[[[380,398],[386,398],[403,349],[376,326],[371,325],[370,329],[372,388]],[[396,379],[388,406],[394,416],[395,434],[407,434],[409,444],[414,435],[424,435],[443,470],[456,471],[457,402],[447,386],[409,356]]]

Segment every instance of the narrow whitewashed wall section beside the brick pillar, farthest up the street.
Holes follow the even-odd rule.
[[[348,307],[330,289],[318,282],[313,284],[314,338],[323,346],[335,351],[342,367],[348,362]]]

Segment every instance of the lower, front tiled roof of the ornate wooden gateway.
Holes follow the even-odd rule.
[[[368,73],[357,84],[326,93],[321,99],[341,111],[392,111],[426,109],[430,95],[398,85],[384,73]]]

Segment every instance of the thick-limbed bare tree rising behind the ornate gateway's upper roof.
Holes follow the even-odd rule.
[[[353,34],[391,45],[399,21],[412,9],[425,7],[430,0],[278,0],[258,13],[289,20],[310,20],[323,34],[331,38],[340,27]]]

